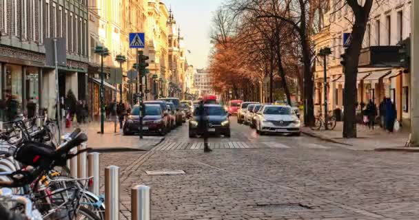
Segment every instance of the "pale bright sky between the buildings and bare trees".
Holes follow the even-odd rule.
[[[174,19],[185,39],[187,63],[195,68],[207,67],[212,47],[212,14],[222,2],[223,0],[163,0],[167,9],[172,5]]]

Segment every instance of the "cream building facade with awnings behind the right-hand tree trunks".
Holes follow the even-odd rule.
[[[331,8],[325,14],[323,30],[313,38],[316,54],[323,47],[331,47],[332,54],[327,58],[327,100],[328,109],[343,109],[345,94],[345,76],[340,64],[340,55],[345,52],[343,47],[344,33],[351,32],[351,8],[340,5],[342,1],[330,0]],[[370,19],[367,24],[362,50],[371,46],[397,45],[410,36],[411,1],[389,0],[378,5],[374,1]],[[361,103],[373,100],[378,106],[383,98],[391,98],[396,104],[398,121],[403,125],[410,124],[410,74],[403,73],[402,68],[369,67],[358,68],[357,102],[358,111]],[[323,58],[316,60],[315,95],[316,109],[319,111],[324,104],[323,94]],[[317,112],[316,111],[316,112]]]

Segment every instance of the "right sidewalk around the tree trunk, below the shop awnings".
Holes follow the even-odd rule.
[[[334,130],[320,131],[311,130],[309,127],[303,127],[301,130],[305,135],[318,137],[322,140],[334,142],[337,144],[344,144],[347,148],[359,151],[396,151],[409,150],[419,151],[419,148],[405,148],[407,140],[409,140],[408,131],[399,131],[395,133],[387,133],[380,126],[376,129],[369,130],[368,126],[357,124],[357,138],[343,138],[343,122],[337,122]]]

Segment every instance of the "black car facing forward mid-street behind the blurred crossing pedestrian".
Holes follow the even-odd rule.
[[[220,104],[205,104],[205,111],[208,115],[208,133],[230,137],[230,121],[228,112]],[[189,137],[203,135],[198,131],[199,115],[198,109],[194,111],[194,117],[189,121]]]

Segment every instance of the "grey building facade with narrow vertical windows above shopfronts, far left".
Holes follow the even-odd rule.
[[[64,38],[67,63],[59,66],[59,91],[85,100],[88,72],[88,2],[0,1],[0,98],[20,113],[47,109],[54,118],[57,89],[53,66],[45,63],[45,39]],[[28,107],[30,109],[28,109]],[[2,109],[4,110],[4,109]],[[29,111],[28,111],[29,110]],[[10,120],[1,113],[0,121]]]

